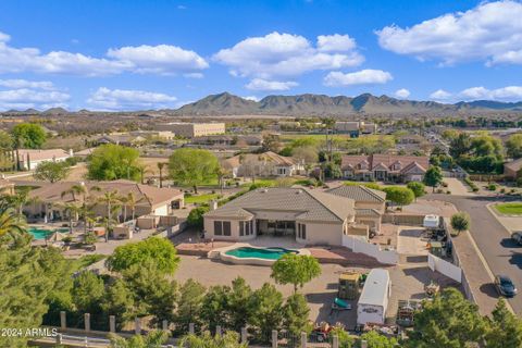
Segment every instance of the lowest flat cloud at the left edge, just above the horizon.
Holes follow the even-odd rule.
[[[0,109],[48,109],[66,107],[71,96],[60,91],[33,90],[28,88],[0,91]]]

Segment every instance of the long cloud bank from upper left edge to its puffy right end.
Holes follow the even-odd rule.
[[[207,61],[194,51],[176,46],[139,46],[111,49],[107,58],[37,48],[14,48],[10,36],[0,33],[0,73],[51,73],[83,76],[121,74],[123,72],[175,74],[208,67]]]

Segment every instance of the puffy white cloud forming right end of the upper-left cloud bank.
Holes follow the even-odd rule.
[[[169,45],[122,47],[110,49],[107,55],[129,63],[138,73],[170,74],[209,67],[198,53]]]

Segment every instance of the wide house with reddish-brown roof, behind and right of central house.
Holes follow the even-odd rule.
[[[353,181],[393,183],[421,182],[430,166],[425,156],[344,156],[343,176]]]

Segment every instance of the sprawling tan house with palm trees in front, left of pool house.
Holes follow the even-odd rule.
[[[116,191],[120,197],[127,197],[134,194],[137,202],[135,215],[169,215],[175,209],[184,206],[184,194],[178,189],[158,188],[154,186],[141,185],[129,181],[114,182],[59,182],[53,184],[44,184],[29,192],[30,203],[24,208],[24,213],[30,219],[44,219],[48,221],[62,220],[65,217],[62,204],[80,204],[84,195],[74,195],[67,192],[72,186],[83,185],[86,187],[86,199],[89,202],[97,202],[94,208],[96,216],[107,217],[107,206],[98,202],[99,198],[105,192]],[[62,192],[67,192],[62,197]],[[119,203],[121,209],[114,213],[113,217],[123,217],[124,203]],[[132,207],[127,206],[127,219],[132,217]]]

